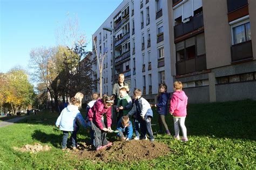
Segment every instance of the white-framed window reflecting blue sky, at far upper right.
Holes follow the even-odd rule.
[[[238,44],[251,40],[251,24],[250,22],[243,24],[235,24],[232,26],[233,44]]]

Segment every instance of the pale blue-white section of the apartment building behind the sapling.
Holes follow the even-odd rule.
[[[163,0],[124,0],[93,34],[98,55],[106,56],[104,94],[112,93],[112,84],[120,73],[125,75],[131,93],[134,88],[140,88],[152,102],[160,83],[172,85],[167,6]],[[95,52],[92,58],[97,72],[93,78],[98,78]],[[99,86],[95,91],[99,91]]]

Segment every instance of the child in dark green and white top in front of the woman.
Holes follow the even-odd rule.
[[[117,100],[117,123],[123,115],[127,115],[130,112],[132,107],[132,99],[129,94],[127,94],[127,89],[125,87],[122,87],[119,90],[119,96],[120,97]]]

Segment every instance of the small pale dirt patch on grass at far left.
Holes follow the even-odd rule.
[[[13,147],[16,151],[21,151],[21,152],[40,152],[40,151],[49,151],[51,149],[50,146],[44,145],[42,146],[41,144],[35,143],[35,145],[29,145],[26,144],[25,146],[18,148],[18,147]]]

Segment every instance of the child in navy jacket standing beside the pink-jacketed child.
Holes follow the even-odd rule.
[[[157,113],[158,113],[158,124],[159,124],[159,132],[163,132],[163,125],[165,127],[165,133],[167,135],[171,135],[168,126],[165,122],[165,116],[167,113],[167,102],[169,99],[169,94],[166,92],[167,91],[167,86],[166,84],[160,84],[159,85],[159,93],[160,96],[158,98],[158,104],[154,105],[157,107]]]

